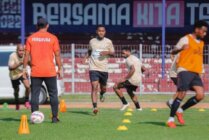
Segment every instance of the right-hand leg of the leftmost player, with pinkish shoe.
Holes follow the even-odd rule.
[[[25,86],[25,107],[30,108],[29,94],[30,94],[30,82],[27,77],[22,77],[22,83]]]

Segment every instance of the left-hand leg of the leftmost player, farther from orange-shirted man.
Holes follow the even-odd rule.
[[[12,87],[14,89],[14,97],[15,97],[15,105],[16,105],[16,110],[20,109],[20,105],[19,105],[19,79],[17,80],[12,80]]]

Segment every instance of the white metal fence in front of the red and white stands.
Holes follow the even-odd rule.
[[[165,75],[162,77],[162,49],[159,45],[115,45],[116,54],[109,59],[109,79],[107,84],[107,92],[113,92],[113,85],[127,74],[125,60],[121,56],[121,48],[128,46],[132,49],[132,53],[139,57],[147,71],[143,74],[142,83],[137,93],[173,93],[176,87],[169,78],[169,69],[171,67],[170,51],[173,46],[167,45],[165,48]],[[83,57],[88,50],[87,44],[69,44],[61,45],[64,83],[67,93],[90,93],[89,66],[88,63],[83,64]],[[204,52],[205,74],[203,77],[205,91],[209,90],[209,66],[208,66],[208,50]]]

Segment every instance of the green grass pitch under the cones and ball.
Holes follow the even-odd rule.
[[[29,117],[30,112],[1,109],[0,140],[203,140],[209,133],[209,110],[188,110],[185,112],[186,126],[176,129],[165,127],[168,109],[134,111],[131,117],[125,117],[124,112],[117,109],[101,109],[97,116],[92,115],[91,109],[68,109],[59,115],[61,122],[58,124],[51,124],[49,109],[41,111],[45,114],[44,123],[29,124],[31,133],[18,135],[21,115]],[[125,118],[132,122],[126,124],[128,131],[117,131]]]

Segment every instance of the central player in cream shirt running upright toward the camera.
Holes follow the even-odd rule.
[[[97,37],[89,42],[89,51],[85,60],[89,58],[89,76],[91,81],[91,99],[93,113],[97,114],[97,92],[100,87],[100,101],[104,101],[106,85],[108,80],[108,58],[114,55],[112,41],[105,37],[106,29],[103,25],[98,25],[96,29]]]

